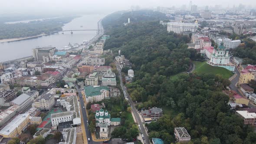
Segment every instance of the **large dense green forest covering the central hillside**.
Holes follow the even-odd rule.
[[[138,109],[161,107],[164,116],[147,125],[149,137],[161,137],[164,144],[174,142],[174,128],[185,127],[191,144],[254,144],[256,133],[243,126],[228,108],[229,97],[221,91],[230,85],[222,75],[187,74],[191,59],[200,58],[194,49],[187,49],[187,36],[167,33],[157,12],[146,16],[137,13],[114,13],[103,19],[106,33],[111,36],[104,49],[125,55],[135,70],[135,82],[127,85]],[[133,17],[127,26],[127,16]],[[111,20],[109,18],[112,17]],[[137,19],[136,19],[137,18]],[[173,76],[175,75],[175,77]],[[121,131],[121,130],[120,130]]]

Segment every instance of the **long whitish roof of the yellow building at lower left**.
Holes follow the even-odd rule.
[[[9,135],[11,132],[15,130],[23,121],[26,120],[30,115],[29,114],[21,114],[16,116],[7,126],[5,126],[1,131],[0,134]]]

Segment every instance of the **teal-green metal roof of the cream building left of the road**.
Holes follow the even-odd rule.
[[[95,96],[95,95],[101,95],[101,90],[105,89],[108,91],[108,87],[107,86],[85,86],[84,90],[85,90],[85,96],[86,97],[90,97],[90,96]]]

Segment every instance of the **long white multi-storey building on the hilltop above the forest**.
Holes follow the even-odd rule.
[[[182,22],[169,22],[167,23],[167,31],[181,34],[186,31],[196,32],[198,28],[197,21],[196,23],[182,23]]]

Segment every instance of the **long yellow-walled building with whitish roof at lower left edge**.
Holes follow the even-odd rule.
[[[29,117],[29,114],[17,115],[16,118],[0,131],[0,135],[6,138],[19,136],[22,133],[22,130],[26,128],[27,124],[30,122]]]

